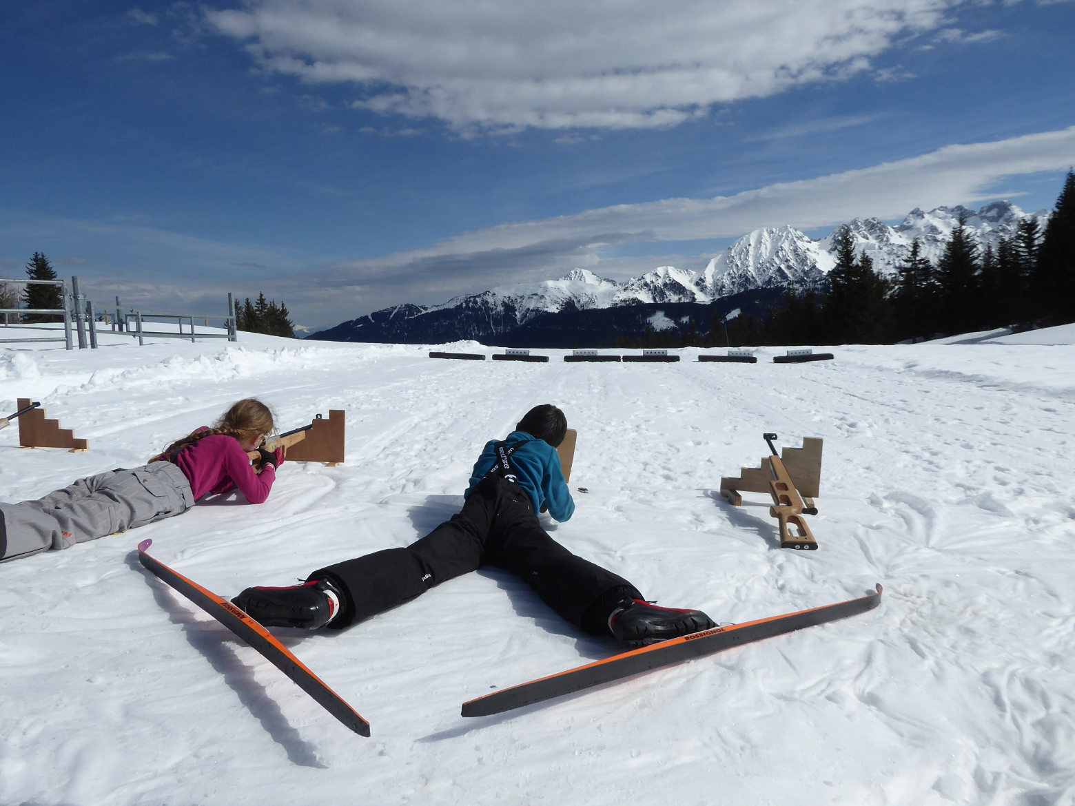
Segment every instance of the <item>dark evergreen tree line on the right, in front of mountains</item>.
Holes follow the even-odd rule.
[[[921,244],[889,279],[849,232],[836,239],[836,265],[826,288],[788,289],[766,316],[714,316],[707,333],[682,337],[647,330],[614,347],[890,344],[975,330],[1026,330],[1075,321],[1075,172],[1069,171],[1044,231],[1024,218],[1012,238],[980,249],[965,219],[934,265]],[[726,330],[727,328],[727,330]]]

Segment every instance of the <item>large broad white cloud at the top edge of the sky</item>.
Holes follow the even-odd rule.
[[[459,131],[653,128],[844,78],[958,0],[247,0],[207,11],[264,69]]]

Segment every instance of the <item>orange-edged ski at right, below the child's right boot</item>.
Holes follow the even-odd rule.
[[[548,677],[542,677],[530,682],[513,686],[496,691],[476,700],[463,703],[462,716],[485,717],[490,714],[501,714],[513,708],[553,700],[558,696],[582,691],[601,683],[612,682],[625,677],[649,672],[662,666],[702,658],[732,647],[751,644],[763,638],[802,630],[806,627],[836,621],[849,616],[856,616],[872,610],[880,604],[883,588],[876,586],[876,593],[847,602],[814,607],[808,610],[789,613],[783,616],[771,616],[757,621],[732,627],[717,627],[679,638],[661,642],[641,649],[615,654],[603,661],[587,663],[585,666],[561,672]]]

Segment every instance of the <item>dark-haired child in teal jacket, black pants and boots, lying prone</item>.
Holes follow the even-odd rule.
[[[538,513],[547,507],[565,521],[575,510],[556,452],[568,421],[556,406],[543,405],[515,428],[506,440],[485,446],[462,510],[420,541],[319,568],[303,585],[247,588],[232,601],[268,627],[342,629],[460,574],[496,565],[526,581],[571,623],[627,647],[715,627],[700,610],[644,601],[629,581],[554,541]]]

